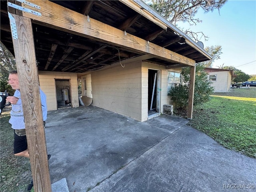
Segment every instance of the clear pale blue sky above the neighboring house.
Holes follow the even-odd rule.
[[[189,26],[179,23],[178,27],[203,32],[208,41],[201,38],[206,46],[222,46],[220,59],[213,63],[218,66],[234,66],[244,73],[256,74],[256,0],[228,0],[220,13],[218,10],[204,13],[199,10],[196,18],[202,23]]]

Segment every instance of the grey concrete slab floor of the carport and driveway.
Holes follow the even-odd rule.
[[[215,192],[255,184],[255,159],[187,122],[166,115],[138,122],[95,106],[48,112],[51,182],[66,178],[69,192]],[[243,190],[250,191],[232,191]]]

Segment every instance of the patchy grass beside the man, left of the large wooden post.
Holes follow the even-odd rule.
[[[14,131],[8,123],[9,119],[10,114],[2,113],[0,118],[0,188],[1,192],[23,192],[27,191],[32,179],[30,161],[25,157],[14,156]]]

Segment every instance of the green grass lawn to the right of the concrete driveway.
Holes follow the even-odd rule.
[[[228,149],[256,158],[256,88],[214,93],[209,102],[194,106],[189,125]]]

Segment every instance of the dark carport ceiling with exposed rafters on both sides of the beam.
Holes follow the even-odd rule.
[[[174,32],[172,28],[168,27],[167,30],[161,28],[122,1],[54,0],[51,2],[80,14],[88,15],[90,18],[186,56],[196,62],[209,60],[209,57],[202,54],[202,51],[199,52],[194,46],[188,45],[184,36]],[[15,3],[19,4],[19,2]],[[38,70],[83,73],[143,55],[143,53],[134,52],[128,48],[117,47],[93,38],[89,39],[57,30],[35,20],[32,20],[32,28]],[[14,55],[6,0],[1,0],[1,42]],[[178,64],[158,58],[150,58],[146,61],[169,66],[169,68],[171,65]]]

